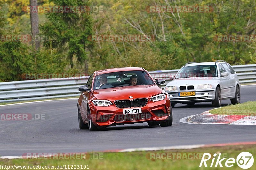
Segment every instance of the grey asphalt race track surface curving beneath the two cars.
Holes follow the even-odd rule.
[[[255,94],[256,85],[241,87],[241,102],[256,101]],[[256,141],[256,126],[179,122],[212,109],[211,103],[176,104],[171,127],[138,123],[97,132],[79,129],[76,103],[77,99],[72,99],[0,106],[0,113],[47,115],[46,120],[0,121],[0,156]],[[230,100],[222,100],[222,106],[228,104]]]

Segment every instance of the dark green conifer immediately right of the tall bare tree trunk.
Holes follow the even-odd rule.
[[[88,6],[87,1],[80,0],[52,0],[58,6]],[[87,59],[87,48],[92,48],[87,39],[92,34],[92,18],[86,12],[81,13],[47,13],[47,22],[40,26],[43,35],[49,37],[45,41],[47,48],[56,48],[67,56],[73,68],[73,57],[79,63]]]

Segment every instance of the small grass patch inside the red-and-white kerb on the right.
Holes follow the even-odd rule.
[[[224,106],[218,109],[212,109],[209,113],[216,115],[256,115],[256,101],[247,101],[238,105]]]

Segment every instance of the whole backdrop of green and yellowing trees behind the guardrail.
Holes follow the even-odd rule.
[[[27,0],[0,0],[0,35],[30,34]],[[0,42],[1,81],[24,73],[87,73],[115,67],[148,71],[184,63],[226,60],[256,63],[255,42],[219,42],[216,35],[255,35],[255,0],[38,0],[42,6],[103,6],[103,12],[39,13],[40,51],[30,43]],[[147,12],[147,6],[212,6],[209,13]],[[92,42],[91,35],[151,35],[154,41]],[[8,48],[8,49],[6,49]],[[8,56],[8,57],[7,57]]]

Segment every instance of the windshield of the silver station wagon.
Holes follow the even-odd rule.
[[[188,77],[217,77],[216,65],[196,65],[183,67],[175,79]]]

